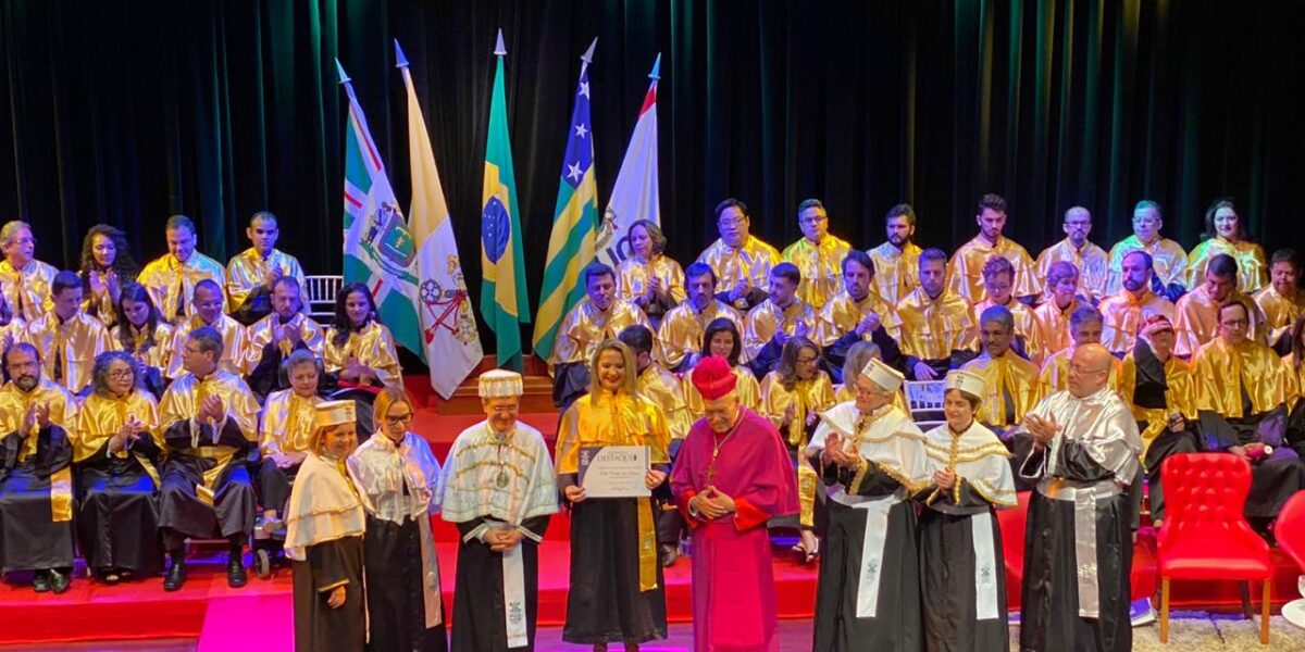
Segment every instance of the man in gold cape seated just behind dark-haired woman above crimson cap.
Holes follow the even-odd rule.
[[[656,339],[662,344],[660,361],[667,369],[685,372],[693,366],[690,360],[706,347],[702,335],[713,319],[729,319],[743,333],[743,317],[739,312],[711,295],[715,286],[716,274],[707,263],[696,262],[684,270],[684,288],[689,297],[666,313],[656,330]],[[740,342],[740,348],[741,344]],[[746,353],[739,359],[739,363],[746,361]]]

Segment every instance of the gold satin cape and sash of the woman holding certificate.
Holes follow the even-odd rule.
[[[671,463],[671,437],[651,402],[624,391],[599,390],[566,408],[557,428],[557,475],[579,473],[579,450],[590,446],[647,446],[649,463]],[[559,482],[560,484],[560,482]],[[650,498],[638,498],[639,589],[656,588],[656,528]]]

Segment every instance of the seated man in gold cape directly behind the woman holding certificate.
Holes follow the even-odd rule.
[[[548,360],[553,372],[553,404],[562,412],[589,391],[589,359],[603,340],[615,338],[626,326],[652,327],[643,310],[616,296],[616,273],[611,267],[591,262],[581,278],[587,297],[566,313]]]

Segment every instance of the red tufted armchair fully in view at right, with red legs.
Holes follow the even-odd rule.
[[[1169,580],[1262,580],[1259,642],[1268,644],[1274,565],[1268,544],[1242,518],[1250,464],[1225,452],[1188,452],[1160,471],[1168,509],[1158,541],[1160,643],[1169,642]]]

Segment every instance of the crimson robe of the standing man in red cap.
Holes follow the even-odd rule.
[[[689,510],[709,485],[733,498],[733,514],[710,520]],[[693,529],[694,651],[778,652],[765,526],[797,511],[797,486],[775,426],[750,409],[726,434],[699,420],[680,447],[671,489]]]

